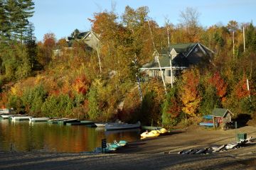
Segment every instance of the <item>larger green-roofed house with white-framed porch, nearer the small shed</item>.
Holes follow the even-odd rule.
[[[171,83],[171,73],[175,78],[183,69],[193,65],[210,63],[214,52],[201,43],[174,44],[161,52],[155,51],[154,60],[142,66],[141,70],[148,77],[161,77],[164,75],[166,84]],[[173,80],[174,80],[173,78]]]

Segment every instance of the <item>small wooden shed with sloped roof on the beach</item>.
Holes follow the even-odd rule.
[[[226,108],[214,108],[210,115],[213,117],[213,128],[227,128],[228,124],[231,123],[231,115],[233,115],[233,113]]]

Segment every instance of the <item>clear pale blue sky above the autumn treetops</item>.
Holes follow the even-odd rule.
[[[114,11],[118,16],[124,13],[125,6],[149,7],[149,17],[159,26],[180,22],[180,13],[187,7],[195,8],[201,26],[226,25],[228,21],[238,23],[256,21],[256,0],[34,0],[35,13],[30,21],[35,26],[37,40],[43,40],[46,33],[54,33],[57,39],[69,36],[73,30],[87,31],[93,13]]]

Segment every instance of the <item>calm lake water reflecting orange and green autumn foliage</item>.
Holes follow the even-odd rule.
[[[104,129],[83,125],[65,126],[48,123],[11,122],[0,120],[0,151],[44,150],[55,152],[92,151],[101,140],[139,140],[139,130],[105,132]]]

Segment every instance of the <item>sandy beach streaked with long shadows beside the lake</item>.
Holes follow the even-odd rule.
[[[177,154],[181,149],[234,142],[236,132],[256,137],[256,128],[250,126],[226,131],[176,130],[131,142],[114,154],[0,152],[0,169],[256,169],[256,142],[213,154]]]

